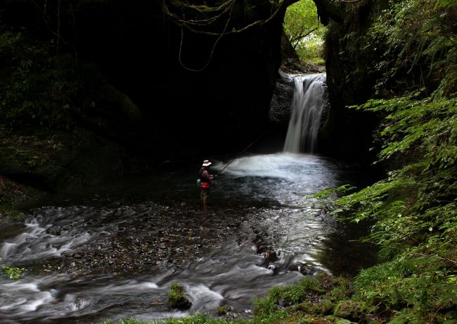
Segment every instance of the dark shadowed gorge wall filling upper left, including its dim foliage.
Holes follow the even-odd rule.
[[[20,95],[34,103],[8,113],[16,128],[33,132],[47,126],[70,137],[83,128],[120,144],[115,150],[129,164],[136,157],[158,163],[236,151],[270,125],[267,111],[281,64],[281,13],[220,37],[180,25],[174,12],[183,8],[171,4],[6,1],[1,6],[4,62],[11,61],[7,71],[18,84],[14,93],[9,88],[10,102]],[[224,21],[230,30],[242,29],[269,18],[273,7],[264,1],[249,14],[244,10],[237,4],[222,23],[206,29],[223,32],[218,24],[224,27]],[[11,44],[25,49],[13,52]],[[53,74],[43,73],[49,68]],[[27,89],[20,89],[23,77],[30,79]],[[37,97],[45,91],[46,97]]]

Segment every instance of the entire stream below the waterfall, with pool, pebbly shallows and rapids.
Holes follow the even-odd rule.
[[[229,161],[213,160],[210,172]],[[274,285],[357,268],[363,252],[346,241],[354,233],[305,204],[349,182],[349,166],[306,154],[238,158],[212,182],[207,209],[198,168],[169,164],[53,197],[25,225],[5,228],[0,258],[26,270],[20,280],[0,277],[0,323],[149,320],[221,305],[248,316]],[[191,299],[188,311],[167,308],[174,282]]]

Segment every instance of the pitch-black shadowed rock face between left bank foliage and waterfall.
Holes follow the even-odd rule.
[[[269,1],[255,6],[248,21],[246,13],[232,15],[231,26],[269,17]],[[57,42],[58,27],[60,52],[95,62],[145,116],[136,140],[155,154],[238,150],[268,127],[281,63],[281,15],[220,39],[184,28],[181,39],[181,27],[156,1],[60,1],[60,20],[56,4],[44,11],[40,1],[32,6],[7,0],[3,10],[6,24],[44,40]]]

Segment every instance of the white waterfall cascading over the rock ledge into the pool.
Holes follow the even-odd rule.
[[[298,75],[294,80],[292,114],[283,151],[312,153],[326,105],[326,74]]]

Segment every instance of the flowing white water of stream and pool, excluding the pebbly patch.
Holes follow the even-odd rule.
[[[221,170],[228,161],[213,160],[212,171]],[[238,158],[213,182],[212,205],[205,216],[209,223],[205,226],[211,228],[215,224],[212,222],[230,217],[240,220],[239,228],[227,228],[229,233],[221,245],[205,254],[189,256],[183,266],[165,272],[72,275],[49,270],[46,264],[82,249],[110,249],[112,238],[122,227],[138,223],[141,229],[145,215],[156,208],[161,208],[162,222],[155,225],[157,228],[179,217],[193,220],[204,216],[195,188],[198,166],[171,168],[133,182],[123,180],[112,192],[88,194],[94,197],[94,205],[72,204],[70,197],[62,206],[56,203],[38,208],[25,227],[0,242],[4,262],[11,266],[25,264],[27,269],[20,280],[0,277],[0,323],[84,324],[127,317],[147,320],[194,311],[214,313],[221,304],[235,313],[249,314],[255,297],[273,285],[302,278],[292,266],[311,269],[309,275],[318,270],[332,272],[335,256],[342,254],[338,249],[344,245],[335,239],[344,236],[345,228],[304,204],[304,198],[348,180],[344,168],[336,161],[306,154]],[[267,262],[257,254],[252,243],[253,224],[268,237],[278,254],[277,261]],[[62,231],[50,232],[56,225]],[[115,256],[112,258],[114,262]],[[190,310],[167,309],[167,294],[173,282],[186,289],[193,303]]]

